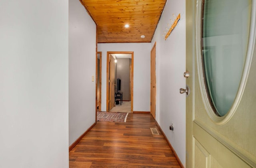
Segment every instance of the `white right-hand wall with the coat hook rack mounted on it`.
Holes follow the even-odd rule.
[[[182,164],[186,162],[186,17],[185,0],[168,0],[152,39],[156,42],[156,120],[172,144]],[[178,14],[181,20],[165,41],[164,32]],[[169,126],[174,123],[174,132]]]

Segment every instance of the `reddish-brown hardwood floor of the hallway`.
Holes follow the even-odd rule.
[[[70,168],[180,168],[150,114],[129,113],[126,123],[98,123],[69,152]]]

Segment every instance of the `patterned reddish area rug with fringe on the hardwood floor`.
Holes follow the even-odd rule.
[[[114,121],[114,122],[126,122],[128,113],[118,112],[98,112],[97,121]]]

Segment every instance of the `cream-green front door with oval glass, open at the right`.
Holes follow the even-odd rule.
[[[186,168],[256,167],[255,10],[186,1]]]

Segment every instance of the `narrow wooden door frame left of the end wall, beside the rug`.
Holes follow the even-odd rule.
[[[100,54],[100,62],[98,62],[98,54]],[[98,63],[100,63],[100,72],[98,72]],[[99,99],[99,111],[101,111],[101,65],[102,65],[102,52],[97,52],[96,56],[96,111],[98,106],[98,99]],[[100,79],[98,79],[98,73],[100,73]],[[98,97],[98,80],[100,81],[100,97]]]

